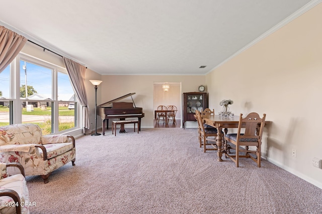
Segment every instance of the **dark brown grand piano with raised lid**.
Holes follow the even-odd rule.
[[[105,126],[109,128],[109,119],[119,118],[120,120],[125,120],[125,118],[133,118],[137,117],[139,122],[139,131],[141,131],[141,118],[144,117],[144,113],[142,112],[142,108],[138,108],[135,106],[132,95],[135,93],[129,93],[122,97],[116,98],[114,100],[108,101],[101,105],[97,106],[97,114],[102,118],[102,129],[103,135],[105,135]],[[133,103],[130,102],[117,102],[127,97],[131,97]],[[134,106],[133,106],[134,104]],[[121,124],[120,133],[124,133],[124,124]]]

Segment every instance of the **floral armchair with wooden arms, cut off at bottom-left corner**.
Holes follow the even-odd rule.
[[[7,169],[12,167],[20,174],[10,176]],[[19,163],[0,163],[0,204],[0,213],[29,213],[29,190]]]

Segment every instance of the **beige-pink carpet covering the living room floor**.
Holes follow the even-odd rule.
[[[31,213],[322,213],[322,189],[263,160],[199,148],[196,129],[76,139],[76,165],[27,177]]]

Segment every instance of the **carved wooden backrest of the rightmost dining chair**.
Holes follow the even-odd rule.
[[[264,123],[265,123],[266,114],[263,114],[263,118],[260,118],[260,115],[256,112],[249,113],[245,118],[243,114],[239,116],[238,123],[238,132],[237,132],[237,141],[255,141],[258,142],[262,139]],[[245,132],[243,135],[240,134],[242,126],[245,125]],[[260,125],[260,130],[258,127]]]

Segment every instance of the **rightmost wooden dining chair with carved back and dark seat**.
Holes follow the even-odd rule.
[[[245,118],[243,114],[240,114],[237,133],[225,135],[225,140],[233,144],[234,148],[231,149],[235,150],[235,154],[225,153],[225,155],[236,163],[236,167],[239,167],[239,157],[251,158],[258,167],[261,167],[261,144],[265,117],[266,114],[263,114],[263,118],[260,118],[256,112],[248,114]],[[241,133],[242,127],[245,127],[244,133]],[[249,146],[256,146],[256,150],[249,150]],[[244,154],[241,155],[240,152]],[[250,153],[255,153],[256,157]]]

